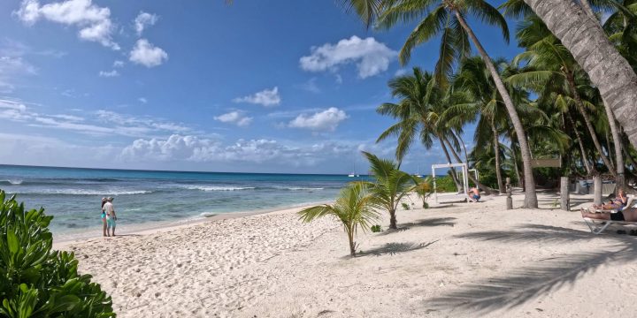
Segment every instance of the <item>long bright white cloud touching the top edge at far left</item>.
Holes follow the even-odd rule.
[[[33,26],[40,19],[74,26],[79,28],[78,36],[82,40],[119,49],[111,37],[114,29],[111,10],[92,4],[91,0],[66,0],[44,5],[38,0],[23,0],[19,10],[13,13],[27,26]]]

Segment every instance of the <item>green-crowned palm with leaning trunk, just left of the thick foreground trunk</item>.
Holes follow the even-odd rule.
[[[534,15],[529,15],[522,27],[518,29],[518,41],[527,50],[519,54],[514,62],[524,61],[528,63],[528,67],[526,72],[512,75],[507,80],[514,85],[535,88],[541,95],[550,95],[555,88],[571,95],[575,100],[576,109],[584,118],[597,153],[613,176],[617,178],[618,173],[609,158],[604,155],[602,144],[597,138],[595,127],[587,111],[589,108],[595,109],[595,106],[579,94],[577,79],[586,83],[588,79],[585,74],[582,74],[570,52],[546,29],[541,19]]]

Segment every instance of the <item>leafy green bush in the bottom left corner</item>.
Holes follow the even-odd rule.
[[[111,297],[79,275],[73,253],[51,251],[53,216],[0,190],[0,317],[115,317]]]

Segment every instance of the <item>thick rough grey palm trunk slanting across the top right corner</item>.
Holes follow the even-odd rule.
[[[598,87],[606,107],[637,146],[637,75],[602,28],[579,4],[564,0],[524,0]]]

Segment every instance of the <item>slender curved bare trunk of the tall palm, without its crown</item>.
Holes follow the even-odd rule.
[[[518,111],[515,109],[513,102],[510,99],[509,92],[506,87],[504,87],[504,83],[500,78],[500,74],[495,69],[495,65],[491,61],[491,58],[487,55],[487,51],[482,47],[480,41],[475,34],[473,34],[473,30],[469,25],[467,25],[464,17],[458,11],[454,11],[456,13],[456,18],[460,25],[464,28],[464,31],[469,34],[469,37],[472,39],[473,45],[476,46],[478,52],[480,53],[480,57],[484,60],[487,65],[488,71],[491,73],[491,77],[494,79],[495,87],[497,87],[500,96],[503,98],[504,106],[506,106],[507,111],[509,112],[509,117],[511,122],[513,123],[513,127],[515,128],[516,134],[518,135],[518,142],[520,145],[520,153],[522,155],[522,163],[525,174],[525,202],[522,208],[537,208],[537,193],[535,193],[535,180],[533,179],[533,168],[531,167],[531,151],[528,148],[528,143],[526,142],[526,133],[524,131],[524,127],[522,126],[522,122],[518,117]],[[637,128],[637,127],[636,127]],[[637,134],[637,133],[636,133]]]

